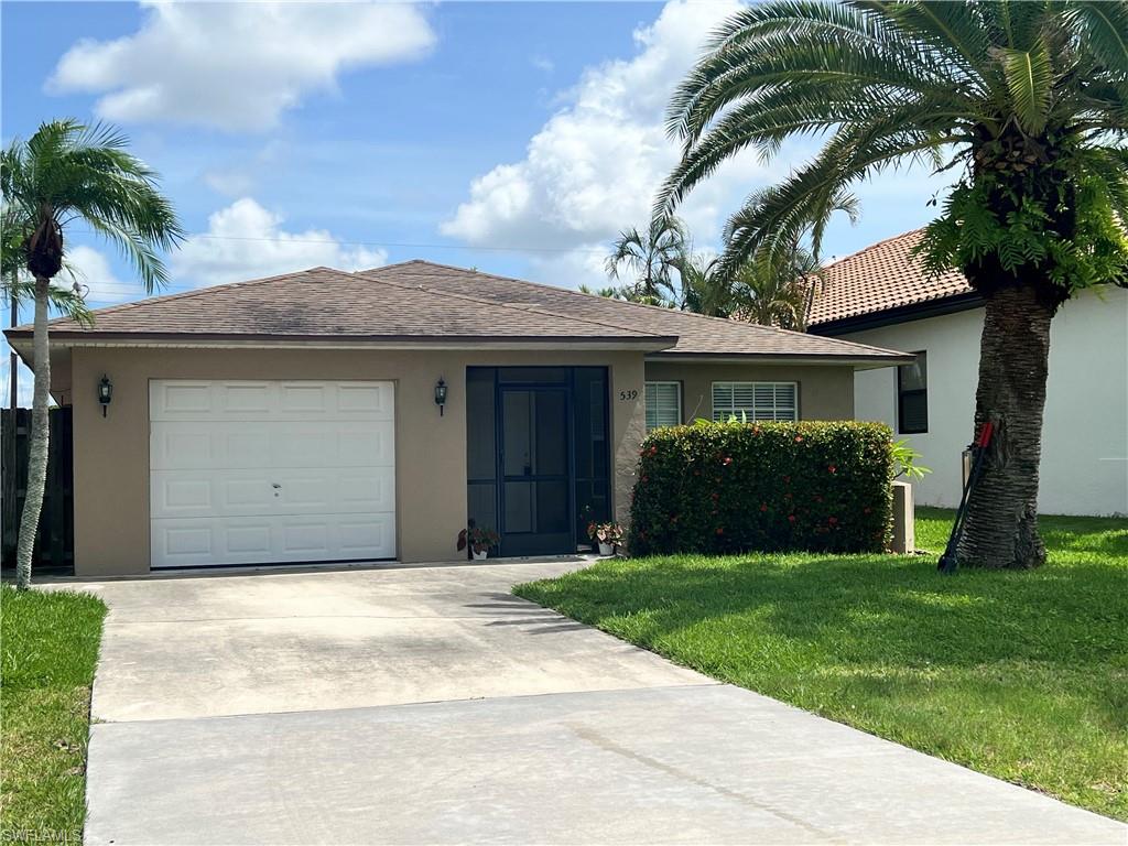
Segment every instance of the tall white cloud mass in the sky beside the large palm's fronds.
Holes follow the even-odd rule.
[[[739,8],[735,0],[669,2],[651,26],[635,32],[633,59],[584,72],[567,105],[529,141],[525,159],[474,179],[443,233],[478,245],[591,249],[644,224],[678,158],[664,131],[670,94],[710,33]],[[772,178],[755,155],[739,156],[694,191],[679,213],[698,240],[713,243],[740,200]],[[536,263],[553,274],[596,264],[580,256]]]

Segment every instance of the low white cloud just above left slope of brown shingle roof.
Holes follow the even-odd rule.
[[[384,249],[349,247],[325,229],[290,232],[283,219],[250,197],[208,219],[208,231],[190,237],[171,257],[174,284],[203,288],[325,265],[344,271],[376,267]]]

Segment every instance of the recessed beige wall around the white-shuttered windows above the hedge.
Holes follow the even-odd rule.
[[[852,420],[854,370],[848,365],[821,364],[711,364],[696,362],[646,362],[647,381],[681,382],[685,423],[713,416],[713,382],[799,382],[800,420]]]

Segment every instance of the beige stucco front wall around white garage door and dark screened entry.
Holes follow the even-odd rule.
[[[455,558],[466,526],[466,368],[512,364],[609,368],[611,495],[625,521],[645,430],[638,352],[76,349],[58,382],[72,387],[74,407],[74,572],[149,571],[150,379],[395,381],[398,557]],[[96,399],[103,373],[114,384],[105,418]],[[434,404],[440,377],[450,386],[443,416]]]

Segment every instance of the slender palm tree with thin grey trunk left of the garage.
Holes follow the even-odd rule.
[[[170,249],[184,237],[171,204],[157,190],[156,174],[131,156],[126,144],[124,135],[107,126],[62,120],[42,124],[26,142],[16,139],[0,152],[6,222],[18,233],[11,247],[23,254],[34,280],[27,287],[35,300],[35,393],[16,552],[19,588],[27,588],[32,580],[32,550],[47,473],[47,309],[51,280],[63,267],[64,228],[81,220],[120,247],[148,291],[167,279],[158,250]],[[14,253],[7,238],[3,252]],[[12,277],[10,284],[20,283]]]

